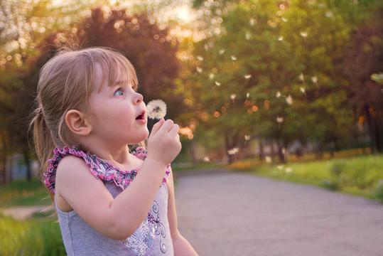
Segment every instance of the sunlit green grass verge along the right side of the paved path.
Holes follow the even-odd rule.
[[[284,165],[247,160],[238,161],[228,168],[268,178],[308,183],[383,202],[382,155],[293,162]]]

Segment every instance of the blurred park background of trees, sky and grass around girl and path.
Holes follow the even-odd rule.
[[[222,167],[383,201],[382,36],[373,0],[0,1],[1,237],[13,230],[0,255],[65,253],[49,210],[12,211],[50,204],[28,122],[60,47],[124,53],[144,101],[164,100],[180,124],[176,172]]]

